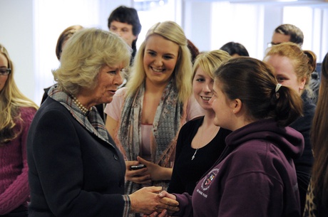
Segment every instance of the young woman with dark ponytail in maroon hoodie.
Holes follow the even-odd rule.
[[[286,127],[302,114],[299,95],[254,58],[222,64],[213,90],[215,125],[232,133],[193,196],[159,194],[179,202],[180,211],[172,216],[300,216],[293,159],[302,154],[304,139]]]

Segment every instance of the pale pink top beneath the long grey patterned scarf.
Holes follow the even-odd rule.
[[[123,104],[124,104],[124,95],[127,88],[120,88],[118,91],[116,91],[115,95],[113,96],[113,101],[111,103],[108,103],[105,107],[104,112],[109,115],[113,120],[119,121],[121,118],[121,112],[123,110]],[[204,110],[198,102],[195,100],[195,97],[190,97],[188,100],[187,105],[187,117],[185,122],[188,122],[189,120],[193,120],[195,117],[203,116]],[[185,122],[183,124],[185,124]],[[143,125],[141,124],[141,137],[142,137],[142,147],[140,156],[144,157],[145,159],[150,159],[150,133],[152,129],[152,125]]]

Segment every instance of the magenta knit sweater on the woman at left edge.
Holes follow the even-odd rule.
[[[22,204],[27,206],[29,201],[26,139],[36,109],[21,107],[20,110],[24,122],[16,127],[22,127],[21,134],[11,142],[0,145],[0,215]]]

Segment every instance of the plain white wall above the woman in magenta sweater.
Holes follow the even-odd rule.
[[[16,84],[34,99],[33,0],[0,0],[0,9],[0,43],[14,62]]]

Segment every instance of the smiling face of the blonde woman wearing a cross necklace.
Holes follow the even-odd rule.
[[[213,95],[213,83],[214,80],[208,75],[208,73],[205,73],[203,68],[199,67],[196,70],[193,79],[193,94],[204,110],[212,110],[209,101]]]

